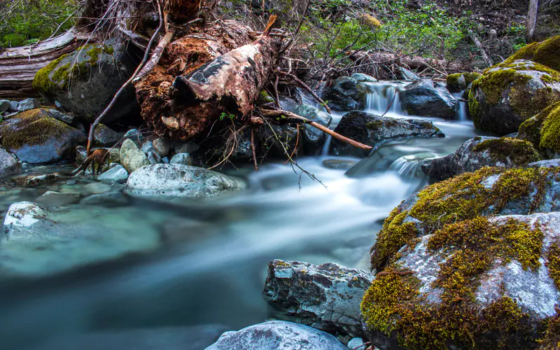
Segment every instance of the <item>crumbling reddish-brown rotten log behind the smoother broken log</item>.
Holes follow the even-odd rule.
[[[195,130],[200,132],[200,128],[191,128],[191,132],[176,131],[185,127],[185,124],[180,125],[180,120],[192,117],[188,116],[186,108],[195,102],[194,99],[174,95],[172,85],[176,76],[188,76],[203,64],[254,39],[249,36],[249,27],[234,20],[216,22],[204,29],[194,28],[193,31],[169,43],[153,71],[133,82],[142,117],[161,137],[187,139],[197,134]],[[204,117],[195,116],[193,121]],[[200,121],[199,127],[204,128],[204,120]]]

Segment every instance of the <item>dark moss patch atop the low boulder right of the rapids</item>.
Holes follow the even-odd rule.
[[[540,155],[531,142],[510,137],[482,141],[472,151],[489,151],[492,160],[506,162],[509,158],[515,165],[519,166],[541,160]]]

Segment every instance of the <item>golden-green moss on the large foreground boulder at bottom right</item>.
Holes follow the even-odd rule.
[[[419,280],[393,262],[377,274],[360,309],[371,330],[396,334],[405,349],[517,349],[533,344],[536,332],[517,302],[503,295],[488,307],[476,306],[479,276],[493,263],[512,259],[537,269],[542,232],[513,219],[490,223],[477,216],[445,225],[427,248],[442,256],[432,287],[441,302],[430,304],[419,293]]]

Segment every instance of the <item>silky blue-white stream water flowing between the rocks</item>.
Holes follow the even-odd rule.
[[[366,111],[414,118],[403,116],[395,96],[403,86],[369,83]],[[341,117],[335,113],[333,124]],[[324,152],[300,158],[300,166],[321,183],[290,165],[269,163],[257,173],[250,168],[236,172],[244,174],[248,189],[218,199],[174,204],[132,200],[125,207],[72,204],[61,209],[60,221],[79,216],[84,228],[104,225],[115,235],[123,231],[165,239],[151,253],[116,263],[52,278],[50,266],[43,264],[34,267],[41,278],[2,282],[0,344],[15,349],[119,328],[220,323],[239,329],[272,316],[262,299],[269,260],[368,269],[382,220],[426,184],[421,162],[447,155],[475,135],[468,120],[433,122],[445,138],[389,141],[363,160]],[[52,167],[28,171],[50,172]],[[33,201],[49,189],[85,186],[92,186],[91,181],[4,190],[0,211],[16,201]]]

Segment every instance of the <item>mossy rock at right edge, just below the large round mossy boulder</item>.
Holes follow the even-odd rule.
[[[531,142],[546,158],[560,155],[560,102],[519,126],[519,139]]]

